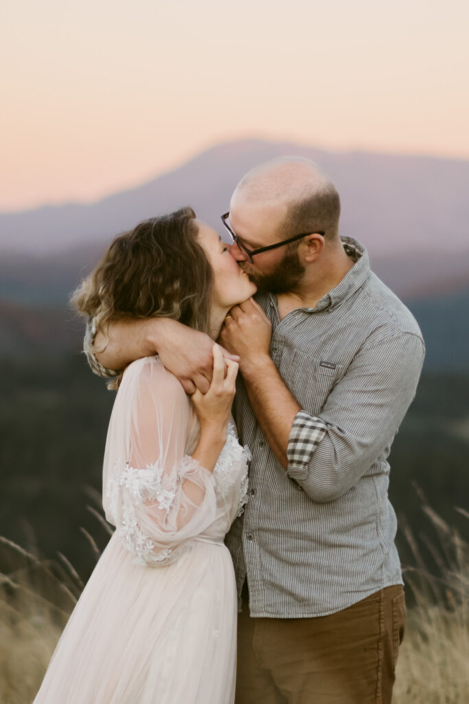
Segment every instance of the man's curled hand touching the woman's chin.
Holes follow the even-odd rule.
[[[221,328],[220,341],[240,357],[240,372],[245,375],[269,358],[271,322],[252,298],[231,308]]]

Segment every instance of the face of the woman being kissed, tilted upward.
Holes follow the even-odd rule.
[[[205,222],[197,221],[198,241],[205,249],[214,275],[213,303],[220,308],[231,308],[255,294],[256,285],[239,268],[231,256],[229,245],[221,241],[219,234]]]

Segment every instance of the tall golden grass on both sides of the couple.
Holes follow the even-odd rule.
[[[437,577],[427,572],[405,529],[417,566],[404,570],[412,605],[393,701],[468,704],[469,543],[430,508],[424,510],[437,536],[428,546],[439,570]],[[4,538],[0,565],[0,702],[30,704],[82,583],[63,555],[58,562],[38,560]]]

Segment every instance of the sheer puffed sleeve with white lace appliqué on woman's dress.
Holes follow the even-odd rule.
[[[158,358],[127,367],[108,430],[103,503],[139,564],[174,561],[215,520],[214,477],[188,453],[190,424],[191,402]]]

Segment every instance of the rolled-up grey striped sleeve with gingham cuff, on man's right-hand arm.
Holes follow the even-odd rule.
[[[364,345],[316,415],[300,410],[288,441],[288,475],[318,502],[339,498],[390,447],[423,365],[423,340],[399,332]]]

